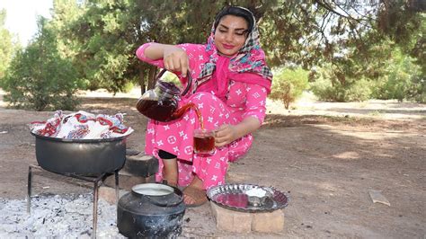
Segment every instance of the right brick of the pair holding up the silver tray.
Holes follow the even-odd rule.
[[[279,233],[284,229],[284,211],[253,213],[252,230],[261,233]]]

